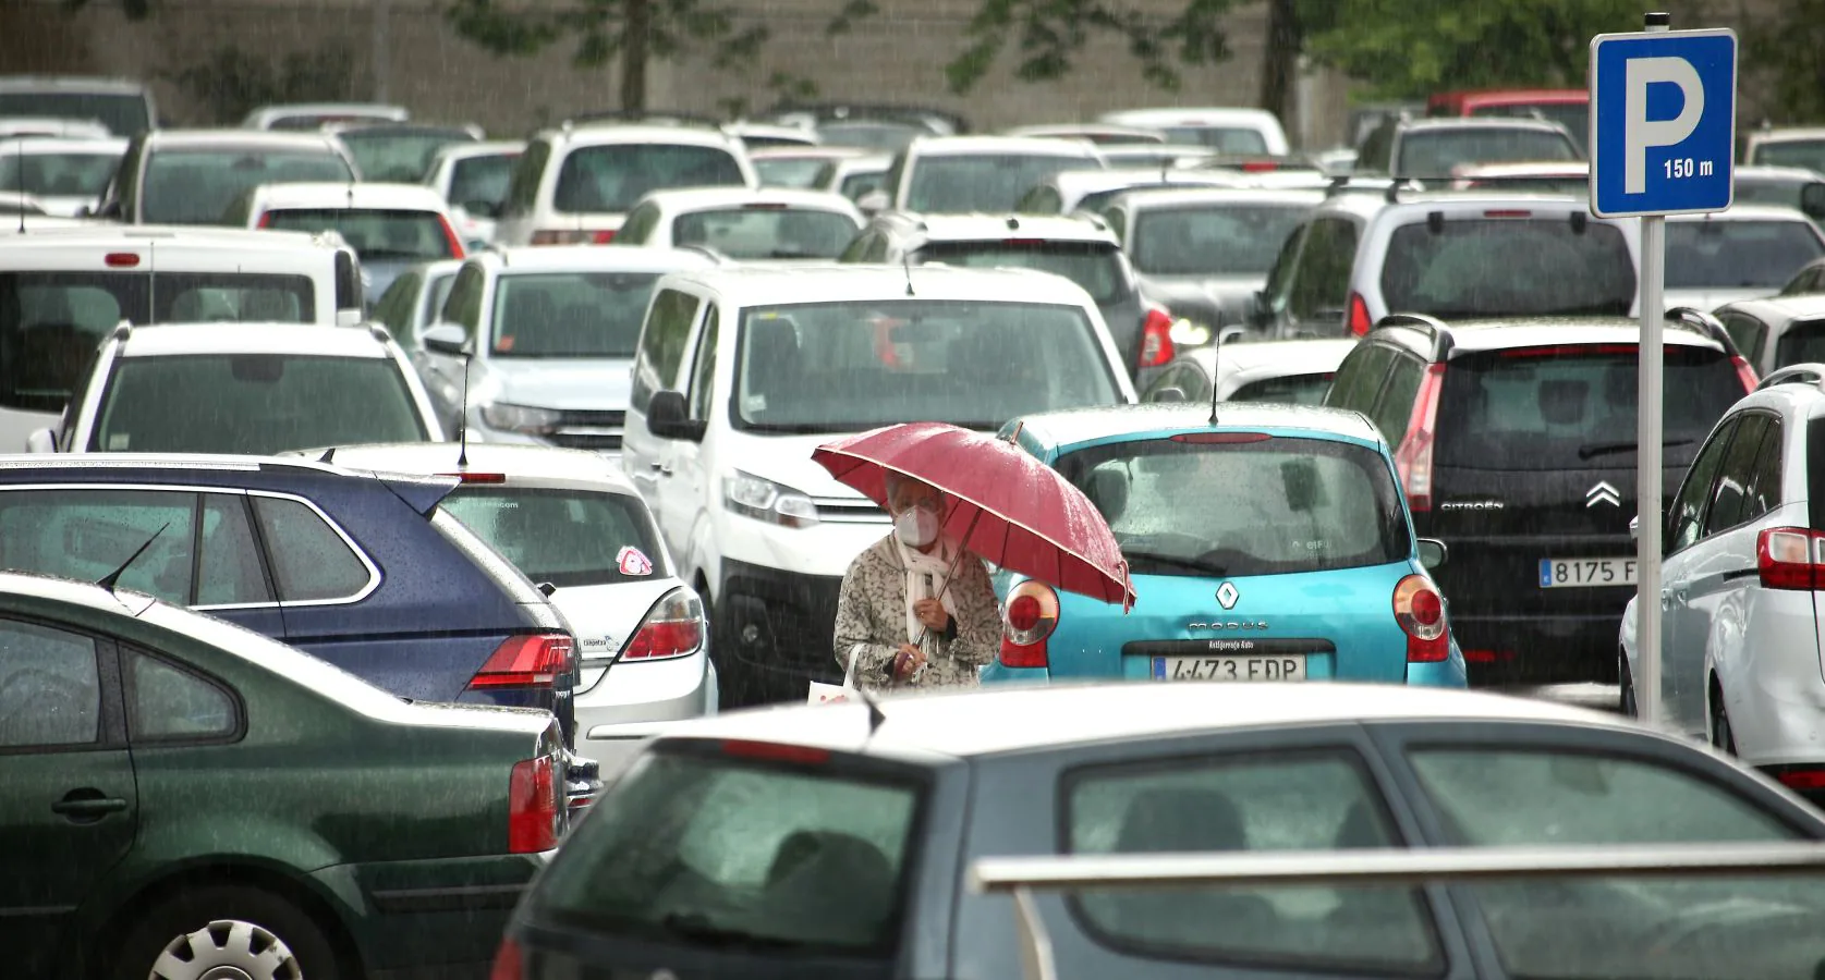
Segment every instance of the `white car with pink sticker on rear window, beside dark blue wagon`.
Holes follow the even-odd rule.
[[[460,453],[467,465],[458,465]],[[646,725],[715,714],[703,602],[679,579],[652,511],[613,460],[549,445],[449,442],[327,454],[341,467],[462,480],[440,507],[549,588],[569,620],[580,662],[577,752],[604,772]]]

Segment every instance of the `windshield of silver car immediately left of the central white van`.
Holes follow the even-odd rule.
[[[515,272],[495,287],[495,358],[631,358],[657,272]]]

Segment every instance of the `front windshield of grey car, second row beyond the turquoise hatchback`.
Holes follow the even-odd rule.
[[[1299,204],[1142,208],[1128,252],[1144,276],[1267,276],[1281,243],[1309,210]]]

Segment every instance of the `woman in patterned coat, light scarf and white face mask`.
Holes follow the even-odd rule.
[[[989,573],[944,535],[944,493],[891,471],[883,489],[894,529],[843,575],[836,662],[861,688],[973,686],[1002,642]]]

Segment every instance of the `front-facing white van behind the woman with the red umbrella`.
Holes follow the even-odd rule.
[[[1135,400],[1095,301],[1035,270],[725,266],[653,288],[622,465],[710,604],[723,706],[834,673],[836,595],[887,515],[810,454],[896,422],[993,433]]]

